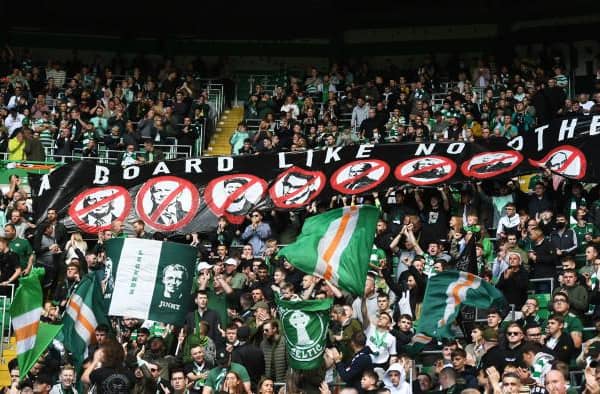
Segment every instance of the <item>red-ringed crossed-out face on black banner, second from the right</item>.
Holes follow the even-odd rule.
[[[478,153],[464,162],[461,171],[465,176],[487,179],[510,172],[523,161],[523,156],[516,151]]]

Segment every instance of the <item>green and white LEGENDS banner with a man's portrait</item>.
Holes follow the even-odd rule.
[[[112,264],[109,315],[183,325],[190,310],[197,249],[174,242],[116,238],[106,243]]]

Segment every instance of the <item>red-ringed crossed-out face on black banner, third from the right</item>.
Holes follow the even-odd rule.
[[[399,164],[394,176],[413,185],[433,185],[452,178],[456,167],[456,163],[447,157],[423,156]]]

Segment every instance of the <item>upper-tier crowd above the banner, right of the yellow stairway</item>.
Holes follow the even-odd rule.
[[[516,66],[479,60],[459,66],[442,83],[431,60],[402,73],[389,65],[358,70],[334,64],[329,72],[311,68],[306,78],[266,91],[257,84],[245,108],[258,129],[239,124],[233,154],[303,151],[359,143],[469,141],[490,146],[557,116],[600,112],[600,79],[595,94],[567,97],[569,80],[560,59]],[[444,73],[447,75],[448,73]],[[443,97],[435,102],[434,95]],[[595,106],[595,107],[594,107]]]

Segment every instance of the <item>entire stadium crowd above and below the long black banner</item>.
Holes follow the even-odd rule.
[[[210,112],[193,68],[167,62],[152,73],[132,67],[116,81],[109,67],[57,61],[36,65],[4,50],[0,75],[2,149],[9,160],[39,160],[95,144],[123,151],[122,163],[160,160],[154,142],[191,142]],[[74,62],[73,62],[74,63]],[[450,70],[444,90],[431,59],[415,70],[367,64],[311,68],[306,77],[267,92],[260,85],[232,136],[236,154],[304,150],[360,142],[410,143],[510,138],[555,117],[600,113],[600,85],[568,97],[565,66],[480,59]],[[381,72],[379,72],[381,71]],[[598,81],[600,84],[600,81]],[[480,93],[476,93],[480,92]],[[441,107],[433,95],[443,93]],[[479,97],[480,95],[481,97]],[[58,99],[50,109],[46,101]],[[344,114],[350,113],[344,118]],[[178,124],[184,126],[178,127]],[[127,155],[145,145],[145,155]],[[42,148],[40,148],[42,147]],[[95,329],[83,370],[54,341],[24,380],[9,363],[7,393],[600,393],[600,196],[595,185],[534,174],[516,179],[415,188],[410,185],[335,196],[293,212],[253,211],[232,225],[220,218],[198,248],[194,309],[182,327],[113,317]],[[303,220],[323,210],[373,204],[381,211],[364,294],[352,297],[277,256]],[[106,278],[103,244],[112,237],[160,238],[143,221],[87,239],[68,233],[57,211],[39,225],[18,177],[3,193],[0,282],[17,284],[32,267],[46,269],[43,320],[61,321],[80,279]],[[465,308],[456,337],[415,354],[428,278],[456,267],[475,238],[477,270],[505,295],[511,310]],[[189,241],[188,241],[189,242]],[[286,341],[273,299],[331,297],[328,344],[320,369],[287,366]],[[426,317],[425,317],[426,318]],[[81,373],[79,373],[81,372]],[[82,385],[76,385],[75,382]],[[92,389],[93,388],[93,389]],[[89,390],[89,391],[88,391]],[[93,391],[95,390],[95,391]]]

